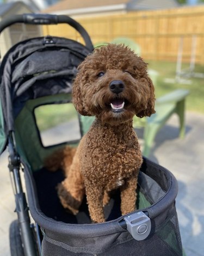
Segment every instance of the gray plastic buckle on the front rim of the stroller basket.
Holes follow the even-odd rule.
[[[141,241],[149,236],[151,231],[150,218],[140,211],[124,218],[127,224],[127,230],[135,240]]]

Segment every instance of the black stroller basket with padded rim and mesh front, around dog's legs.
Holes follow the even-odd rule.
[[[121,216],[117,192],[104,210],[108,222],[90,224],[85,200],[77,216],[67,213],[57,202],[55,186],[63,178],[60,171],[54,172],[53,177],[45,169],[34,176],[26,170],[25,175],[30,211],[44,233],[42,255],[182,255],[175,208],[177,182],[165,168],[144,158],[140,170],[139,193],[150,203],[141,210],[150,217],[152,225],[150,235],[143,241],[133,239],[121,227],[125,216]]]

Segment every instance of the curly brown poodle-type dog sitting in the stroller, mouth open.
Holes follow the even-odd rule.
[[[121,213],[126,215],[135,210],[143,162],[133,117],[155,112],[147,64],[125,45],[98,47],[79,65],[72,95],[79,114],[95,116],[95,121],[77,149],[66,147],[51,159],[61,159],[65,170],[58,185],[61,204],[76,215],[86,194],[92,222],[105,222],[103,206],[110,192],[120,188]]]

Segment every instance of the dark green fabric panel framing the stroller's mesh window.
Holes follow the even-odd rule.
[[[42,146],[36,127],[34,109],[40,105],[65,102],[71,102],[71,94],[57,94],[28,100],[15,120],[17,151],[23,160],[30,165],[32,171],[42,168],[45,157],[62,147],[62,145]]]

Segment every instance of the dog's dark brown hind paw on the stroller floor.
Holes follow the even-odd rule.
[[[72,197],[71,192],[66,190],[66,188],[63,186],[63,183],[58,184],[57,191],[58,197],[63,207],[71,211],[73,215],[77,215],[81,202]]]

